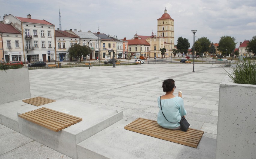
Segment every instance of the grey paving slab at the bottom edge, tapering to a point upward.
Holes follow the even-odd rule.
[[[27,137],[28,138],[28,137]],[[53,149],[42,145],[36,141],[29,142],[23,146],[1,155],[0,158],[17,159],[41,159],[41,158],[63,158],[71,159],[66,155],[63,155]]]

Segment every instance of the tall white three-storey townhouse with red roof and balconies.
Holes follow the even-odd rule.
[[[46,20],[32,19],[30,14],[27,18],[9,14],[4,16],[4,21],[6,20],[21,32],[25,59],[29,62],[55,61],[53,24]]]

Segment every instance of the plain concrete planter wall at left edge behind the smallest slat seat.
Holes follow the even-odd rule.
[[[30,98],[29,70],[0,70],[0,104]]]

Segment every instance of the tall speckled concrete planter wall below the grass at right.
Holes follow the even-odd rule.
[[[226,76],[220,84],[218,158],[255,158],[256,85],[234,84]]]

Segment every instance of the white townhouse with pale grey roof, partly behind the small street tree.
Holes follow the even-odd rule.
[[[92,49],[92,52],[90,53],[90,59],[100,59],[100,57],[102,58],[102,55],[100,56],[100,50],[99,50],[99,44],[100,44],[100,38],[98,38],[97,36],[95,36],[91,31],[88,32],[82,32],[77,31],[75,29],[75,31],[73,31],[73,33],[75,33],[77,36],[80,37],[80,45],[84,46],[89,46]],[[89,59],[89,56],[86,57],[86,59]]]

